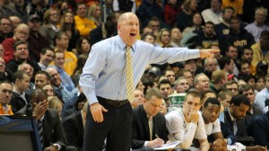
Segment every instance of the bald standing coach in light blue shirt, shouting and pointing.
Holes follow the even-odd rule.
[[[85,126],[84,151],[100,151],[104,140],[108,150],[130,150],[132,107],[127,100],[126,70],[132,68],[133,90],[149,64],[174,63],[190,58],[213,57],[212,49],[154,47],[137,40],[139,21],[134,13],[123,13],[117,21],[118,35],[92,46],[83,67],[80,85],[90,104]],[[133,66],[126,67],[130,47]],[[129,63],[129,62],[128,62]],[[134,64],[135,63],[135,64]],[[129,82],[129,80],[128,80]]]

